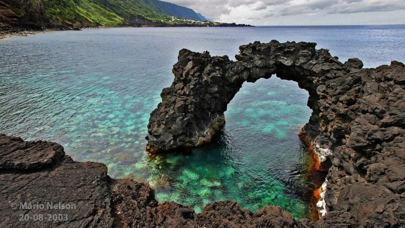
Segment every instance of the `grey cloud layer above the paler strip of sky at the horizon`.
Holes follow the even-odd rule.
[[[228,15],[237,7],[250,9],[249,18],[315,13],[356,13],[405,9],[404,0],[167,0],[194,9],[207,18]],[[260,16],[258,15],[260,14]]]

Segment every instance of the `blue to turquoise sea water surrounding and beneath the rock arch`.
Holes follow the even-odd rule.
[[[305,217],[299,195],[306,152],[297,137],[308,120],[307,92],[275,76],[243,84],[225,112],[217,143],[189,155],[150,159],[144,150],[149,113],[170,85],[179,49],[209,50],[232,59],[254,40],[304,40],[341,61],[366,67],[404,61],[404,26],[255,28],[114,28],[45,32],[0,41],[0,133],[51,140],[75,160],[108,166],[112,177],[133,173],[198,212],[233,199],[256,210],[281,205]]]

